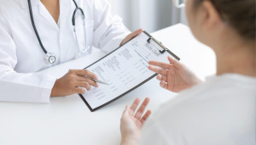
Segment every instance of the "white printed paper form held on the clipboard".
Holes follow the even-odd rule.
[[[168,63],[167,56],[171,54],[160,53],[159,50],[163,48],[154,41],[148,43],[148,38],[148,35],[142,33],[86,68],[95,73],[99,80],[109,84],[99,84],[99,87],[94,87],[82,95],[91,109],[119,98],[152,77],[154,72],[148,70],[149,60]]]

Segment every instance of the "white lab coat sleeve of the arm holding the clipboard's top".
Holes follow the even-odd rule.
[[[93,45],[107,53],[119,47],[130,31],[125,27],[122,19],[111,14],[107,0],[94,1],[94,36]]]

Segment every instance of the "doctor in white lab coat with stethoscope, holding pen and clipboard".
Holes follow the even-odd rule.
[[[0,101],[48,103],[49,97],[85,93],[81,87],[97,86],[84,77],[96,79],[88,70],[59,79],[36,72],[90,54],[92,46],[109,53],[141,32],[128,35],[105,0],[2,0]]]

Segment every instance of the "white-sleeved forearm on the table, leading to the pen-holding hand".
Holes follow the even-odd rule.
[[[3,69],[3,66],[0,67]],[[5,72],[5,73],[3,73]],[[0,101],[49,103],[55,77],[0,71]]]

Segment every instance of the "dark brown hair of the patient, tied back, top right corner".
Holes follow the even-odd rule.
[[[195,0],[198,6],[204,0]],[[255,0],[209,0],[222,20],[245,40],[255,41]]]

